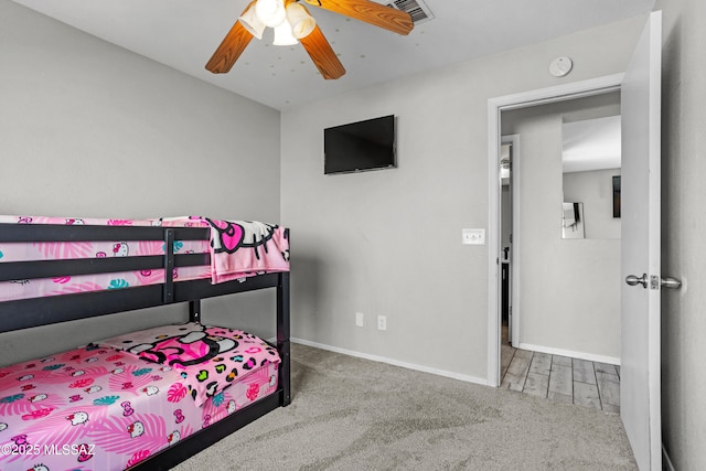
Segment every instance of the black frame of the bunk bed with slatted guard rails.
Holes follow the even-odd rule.
[[[201,319],[201,300],[275,288],[277,291],[277,350],[281,357],[277,390],[252,405],[180,440],[131,469],[165,470],[196,454],[232,432],[278,407],[291,403],[289,346],[289,272],[266,274],[245,281],[212,285],[208,279],[175,282],[174,267],[211,263],[208,254],[174,254],[174,240],[208,240],[203,227],[92,226],[2,224],[0,243],[163,240],[163,256],[128,256],[72,260],[0,263],[0,281],[53,278],[164,268],[163,283],[0,302],[0,333],[136,309],[189,302],[189,318]]]

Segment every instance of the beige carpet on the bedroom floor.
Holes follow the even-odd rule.
[[[293,400],[202,470],[635,470],[620,417],[303,345]]]

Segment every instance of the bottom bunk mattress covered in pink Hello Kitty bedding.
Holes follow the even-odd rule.
[[[277,350],[199,323],[0,367],[0,470],[122,470],[277,389]]]

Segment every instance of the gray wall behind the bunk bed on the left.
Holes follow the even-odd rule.
[[[0,71],[0,213],[279,220],[279,111],[8,0]],[[270,309],[270,298],[216,308],[231,324],[228,304]],[[0,358],[185,319],[163,311],[0,334]]]

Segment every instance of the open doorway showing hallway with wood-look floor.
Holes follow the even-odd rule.
[[[619,92],[502,113],[503,388],[620,411],[620,127]]]

